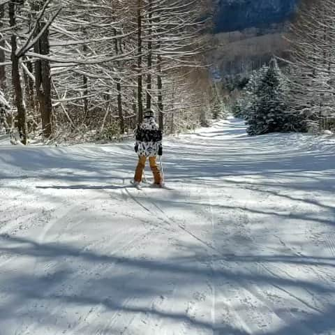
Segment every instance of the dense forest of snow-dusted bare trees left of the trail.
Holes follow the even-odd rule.
[[[1,0],[0,17],[1,124],[14,140],[113,140],[146,109],[167,133],[205,124],[209,1]]]

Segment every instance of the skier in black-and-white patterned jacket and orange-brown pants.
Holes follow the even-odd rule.
[[[163,186],[161,171],[156,163],[156,156],[162,156],[162,132],[154,119],[154,112],[147,109],[144,113],[142,124],[135,131],[135,152],[138,155],[137,168],[135,170],[134,184],[139,186],[142,181],[142,174],[145,163],[149,157],[149,164],[154,174],[154,186]]]

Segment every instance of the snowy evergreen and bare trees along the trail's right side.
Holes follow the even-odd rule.
[[[334,38],[334,1],[301,1],[285,34],[288,58],[251,73],[234,103],[250,135],[335,130]]]

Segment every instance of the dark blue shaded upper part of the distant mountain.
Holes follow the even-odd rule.
[[[267,27],[292,17],[299,0],[217,0],[215,32]]]

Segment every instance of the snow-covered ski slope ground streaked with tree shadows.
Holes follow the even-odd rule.
[[[1,146],[0,334],[335,334],[334,144],[223,121],[142,191],[131,142]]]

